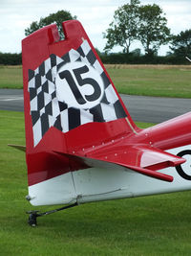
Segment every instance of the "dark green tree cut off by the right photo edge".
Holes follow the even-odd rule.
[[[191,29],[173,35],[170,49],[176,56],[191,56]]]

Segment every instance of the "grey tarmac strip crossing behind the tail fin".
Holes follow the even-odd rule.
[[[120,96],[134,121],[161,123],[191,111],[191,99]],[[0,89],[0,109],[23,111],[23,91]]]

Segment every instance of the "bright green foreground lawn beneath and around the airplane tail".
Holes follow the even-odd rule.
[[[24,136],[24,114],[0,111],[0,255],[190,255],[191,192],[84,204],[30,227],[25,155],[7,147]]]

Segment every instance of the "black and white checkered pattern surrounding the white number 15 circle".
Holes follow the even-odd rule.
[[[64,64],[74,61],[83,61],[93,66],[102,78],[104,94],[100,103],[92,108],[79,109],[59,102],[56,98],[55,78],[58,70]],[[62,58],[51,55],[38,68],[29,70],[29,92],[34,147],[51,127],[67,132],[87,123],[109,122],[126,117],[111,82],[87,40],[76,51],[72,49]]]

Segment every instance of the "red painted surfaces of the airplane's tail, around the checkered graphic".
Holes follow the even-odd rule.
[[[63,22],[63,30],[66,38],[62,41],[59,41],[56,25],[53,24],[29,35],[22,42],[29,185],[88,167],[83,161],[77,161],[70,155],[116,163],[144,175],[172,181],[171,176],[159,174],[156,170],[184,162],[180,157],[163,150],[191,142],[191,115],[187,114],[154,128],[141,130],[132,121],[118,94],[126,118],[105,123],[93,122],[65,133],[50,128],[39,144],[33,146],[29,69],[36,69],[52,54],[62,57],[71,49],[76,50],[83,40],[87,40],[113,84],[81,24],[76,20],[66,21]],[[113,87],[116,91],[114,84]]]

